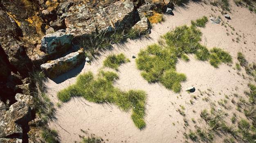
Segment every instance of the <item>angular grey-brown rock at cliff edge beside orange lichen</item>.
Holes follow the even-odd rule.
[[[150,22],[147,17],[142,18],[139,22],[137,22],[132,29],[135,29],[139,32],[139,35],[145,35],[150,32]]]

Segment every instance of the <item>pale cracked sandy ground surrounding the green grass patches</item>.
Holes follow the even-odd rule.
[[[85,63],[54,80],[49,79],[46,83],[48,95],[51,101],[56,104],[59,102],[56,93],[76,81],[76,78],[70,75],[74,76],[77,73],[88,71],[97,74],[106,56],[111,53],[122,52],[130,58],[130,62],[119,67],[119,80],[115,86],[122,90],[142,89],[147,92],[146,128],[144,130],[135,127],[130,117],[131,112],[123,112],[111,104],[88,102],[83,98],[72,98],[69,102],[61,104],[60,108],[56,107],[56,120],[49,123],[50,128],[58,130],[62,143],[81,141],[79,135],[85,135],[81,130],[101,137],[106,143],[184,142],[186,139],[184,139],[183,133],[188,128],[193,128],[195,125],[203,126],[202,121],[200,121],[200,111],[209,108],[209,102],[203,101],[202,98],[209,97],[210,101],[217,102],[225,98],[224,94],[238,93],[243,95],[243,91],[247,89],[247,84],[250,82],[245,69],[242,68],[241,71],[238,71],[234,67],[235,63],[238,63],[236,56],[239,51],[243,52],[249,63],[255,62],[256,14],[246,8],[236,6],[233,1],[230,1],[230,4],[231,20],[227,20],[220,13],[220,8],[203,2],[191,2],[183,7],[175,7],[174,15],[164,15],[164,22],[153,25],[149,38],[128,40],[122,46],[114,45],[113,50],[102,53],[97,60],[92,61],[91,65]],[[207,17],[220,15],[222,22],[224,21],[235,28],[233,31],[227,24],[225,24],[227,25],[226,28],[224,25],[211,24],[210,22],[205,28],[200,28],[203,33],[202,44],[207,45],[209,49],[219,47],[228,51],[233,58],[233,63],[231,65],[223,64],[215,69],[208,62],[197,61],[194,59],[194,55],[189,55],[189,62],[179,60],[176,65],[177,71],[186,74],[187,77],[186,82],[182,83],[180,93],[173,93],[160,84],[148,84],[140,76],[135,59],[131,56],[137,55],[139,50],[147,45],[157,43],[160,35],[175,28],[175,26],[190,25],[191,20],[196,20],[204,15]],[[240,40],[238,42],[236,42],[237,37]],[[245,75],[245,78],[242,74]],[[185,88],[191,86],[194,86],[196,91],[187,93]],[[200,95],[200,91],[206,91],[210,96],[207,94]],[[192,98],[193,95],[198,96],[198,99]],[[193,105],[190,104],[190,100],[193,100]],[[231,104],[231,101],[229,102]],[[184,128],[184,117],[176,111],[180,105],[185,107],[186,119],[190,124],[188,128]],[[218,104],[216,106],[218,108]],[[191,118],[194,118],[196,123],[193,123]]]

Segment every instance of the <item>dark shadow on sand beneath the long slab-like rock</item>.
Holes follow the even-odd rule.
[[[75,76],[77,76],[83,69],[85,65],[85,61],[83,61],[83,63],[81,65],[79,65],[78,67],[71,69],[70,71],[61,74],[60,76],[57,76],[56,78],[52,79],[55,83],[59,84],[61,82],[64,82],[65,80],[69,79],[69,78],[73,78]]]

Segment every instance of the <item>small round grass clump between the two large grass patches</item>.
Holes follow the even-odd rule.
[[[123,53],[117,54],[117,55],[111,54],[107,56],[107,58],[103,61],[103,66],[110,67],[112,69],[117,70],[122,63],[126,63],[126,62],[127,62],[127,59]]]

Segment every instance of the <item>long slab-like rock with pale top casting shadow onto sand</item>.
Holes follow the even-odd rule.
[[[77,52],[72,52],[64,57],[53,61],[47,61],[40,67],[49,78],[53,79],[81,64],[84,60],[84,50],[80,48]]]

